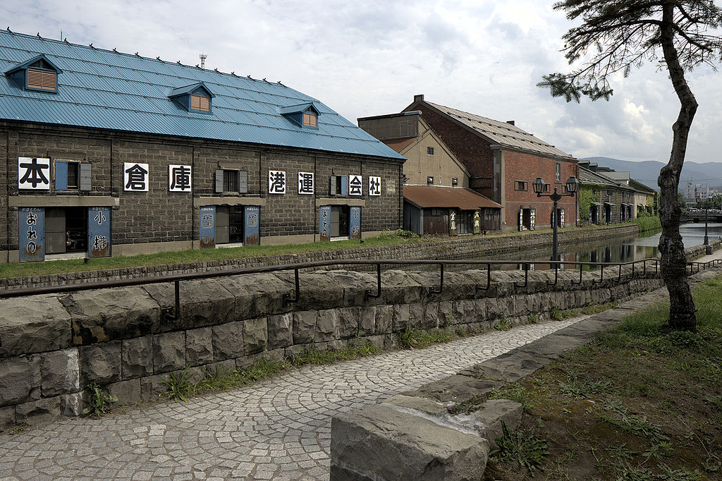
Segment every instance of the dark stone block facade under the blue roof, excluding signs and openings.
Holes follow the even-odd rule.
[[[19,190],[18,157],[90,162],[92,187],[58,192],[51,179],[50,191]],[[149,165],[149,191],[123,190],[123,162]],[[192,166],[191,193],[168,191],[168,165],[175,164]],[[203,205],[260,205],[261,244],[318,241],[319,207],[326,204],[360,205],[362,233],[393,230],[401,226],[402,165],[369,155],[3,121],[0,262],[17,261],[18,207],[112,207],[114,254],[133,254],[134,246],[138,252],[197,247]],[[223,168],[246,171],[248,192],[217,194],[214,175]],[[286,194],[268,194],[269,170],[286,172]],[[297,194],[299,171],[315,174],[313,195]],[[362,175],[363,195],[331,195],[329,177],[349,174]],[[381,178],[380,196],[367,195],[369,176]]]

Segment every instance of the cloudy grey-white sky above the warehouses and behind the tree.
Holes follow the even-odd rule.
[[[426,100],[516,125],[576,157],[666,162],[679,108],[664,71],[632,71],[612,100],[565,103],[536,87],[567,69],[571,26],[542,0],[5,0],[11,30],[250,74],[350,121]],[[5,27],[5,25],[2,25]],[[722,161],[722,73],[697,69],[687,160]]]

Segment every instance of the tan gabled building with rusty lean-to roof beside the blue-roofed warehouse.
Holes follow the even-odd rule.
[[[442,235],[499,230],[501,206],[469,188],[469,170],[421,112],[364,117],[358,124],[406,157],[404,229]]]

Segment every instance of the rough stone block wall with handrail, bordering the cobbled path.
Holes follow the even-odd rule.
[[[614,269],[616,274],[616,269]],[[118,404],[151,399],[164,379],[189,367],[192,380],[216,366],[245,368],[259,356],[280,360],[312,345],[339,348],[369,341],[396,344],[405,329],[492,329],[501,319],[523,324],[547,319],[552,309],[624,300],[659,287],[654,269],[622,282],[575,272],[482,270],[445,274],[388,271],[380,298],[375,274],[342,270],[301,273],[300,298],[292,272],[248,274],[181,282],[181,312],[169,319],[173,286],[154,284],[0,300],[0,429],[48,415],[79,415],[84,389],[95,383]],[[481,287],[481,289],[480,289]]]

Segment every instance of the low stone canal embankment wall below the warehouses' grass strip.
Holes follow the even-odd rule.
[[[559,232],[559,242],[578,243],[598,241],[606,238],[619,238],[637,235],[636,224],[599,226],[594,228],[570,228]],[[212,272],[236,267],[261,267],[297,262],[332,261],[338,259],[467,259],[474,256],[504,254],[522,251],[539,246],[552,245],[552,232],[518,233],[513,235],[471,235],[429,241],[401,246],[382,246],[370,248],[342,249],[338,251],[305,252],[283,254],[279,256],[246,257],[242,259],[219,259],[214,261],[186,262],[181,264],[163,264],[158,266],[123,267],[97,271],[66,272],[61,274],[43,274],[27,277],[0,279],[0,288],[41,287],[92,282],[100,280],[120,280],[134,277],[152,277],[162,274],[187,274],[190,272]],[[92,262],[92,261],[91,261]]]

